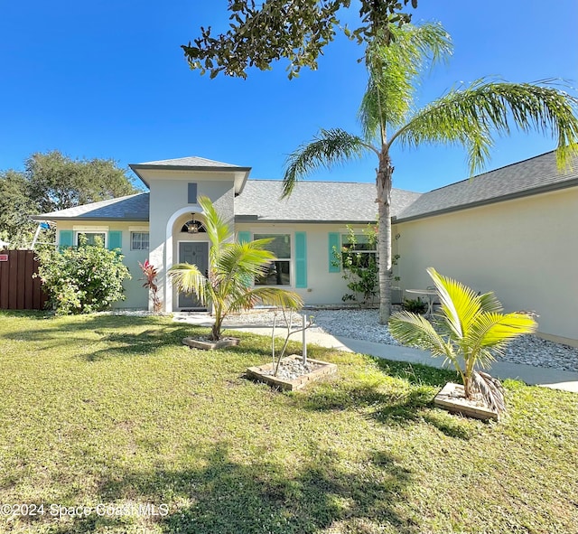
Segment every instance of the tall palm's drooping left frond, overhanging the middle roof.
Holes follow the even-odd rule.
[[[340,128],[321,130],[313,137],[312,142],[299,146],[287,157],[283,177],[283,194],[285,198],[294,190],[295,183],[305,175],[335,164],[342,164],[353,158],[359,158],[368,150],[378,153],[372,145],[364,142],[359,136],[349,134]]]

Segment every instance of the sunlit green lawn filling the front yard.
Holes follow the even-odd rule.
[[[266,338],[182,346],[197,330],[0,314],[0,503],[44,507],[0,509],[0,532],[576,530],[572,393],[507,381],[481,423],[433,408],[452,372],[320,348],[339,378],[280,393],[243,376]]]

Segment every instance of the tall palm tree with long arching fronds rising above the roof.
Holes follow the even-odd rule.
[[[379,322],[391,313],[391,189],[394,143],[418,146],[446,143],[466,148],[473,174],[489,157],[493,133],[508,134],[512,126],[522,131],[552,131],[557,138],[557,162],[570,163],[578,149],[578,99],[551,84],[508,83],[477,80],[469,87],[448,91],[422,109],[414,110],[415,81],[426,67],[443,61],[452,52],[449,35],[440,24],[389,28],[389,44],[376,40],[368,47],[368,87],[359,108],[362,136],[342,129],[325,130],[289,155],[283,196],[297,180],[324,166],[344,163],[373,153],[378,157]]]

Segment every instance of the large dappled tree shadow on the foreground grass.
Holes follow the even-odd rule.
[[[361,533],[383,525],[400,534],[417,532],[397,506],[406,498],[412,473],[386,452],[368,454],[363,473],[345,470],[330,451],[312,450],[312,461],[296,468],[284,466],[282,460],[267,463],[258,458],[241,464],[231,459],[223,443],[200,455],[198,469],[118,473],[114,480],[102,482],[98,498],[150,503],[157,510],[168,504],[168,514],[149,518],[167,534],[313,534],[331,532],[332,527]],[[122,528],[120,518],[112,524],[110,518],[99,521],[75,518],[67,529],[51,532]]]

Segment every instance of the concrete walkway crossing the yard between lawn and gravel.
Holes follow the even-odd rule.
[[[185,314],[175,315],[174,320],[177,322],[194,323],[200,326],[210,326],[210,316]],[[228,330],[238,332],[256,333],[260,335],[271,335],[271,328],[254,325],[227,325]],[[283,336],[283,331],[279,332]],[[301,340],[301,333],[294,334],[294,340]],[[421,363],[442,369],[443,358],[433,358],[428,351],[412,349],[409,347],[399,347],[396,345],[387,345],[385,343],[365,342],[354,340],[346,337],[332,336],[329,333],[307,332],[307,342],[336,349],[339,351],[359,352],[360,354],[369,354],[394,361],[407,361],[409,363]],[[447,367],[447,366],[446,366]],[[489,369],[489,373],[499,379],[518,379],[526,382],[530,386],[542,386],[552,389],[564,389],[578,393],[578,372],[569,370],[557,370],[545,367],[536,367],[534,365],[524,365],[521,363],[510,363],[508,361],[494,361]]]

